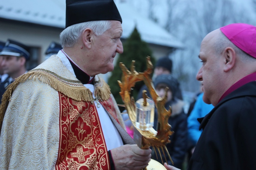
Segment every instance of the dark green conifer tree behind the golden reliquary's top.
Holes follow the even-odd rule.
[[[112,75],[109,78],[108,84],[111,88],[111,92],[116,99],[118,104],[123,104],[122,98],[119,95],[120,87],[117,83],[118,80],[121,81],[122,70],[119,67],[119,63],[122,62],[125,66],[130,70],[132,60],[135,61],[135,69],[138,72],[143,72],[146,70],[146,57],[150,56],[151,62],[154,65],[155,58],[152,56],[152,50],[148,47],[148,44],[143,41],[140,37],[140,33],[135,27],[130,37],[127,38],[125,43],[123,44],[124,53],[120,54],[117,63],[112,71]],[[137,82],[135,87],[132,90],[132,96],[136,99],[138,91],[141,86],[144,84],[143,81]],[[119,107],[122,112],[125,108]]]

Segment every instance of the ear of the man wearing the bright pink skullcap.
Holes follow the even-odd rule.
[[[236,63],[237,53],[234,51],[233,48],[227,47],[223,52],[223,60],[224,60],[224,71],[228,72]]]

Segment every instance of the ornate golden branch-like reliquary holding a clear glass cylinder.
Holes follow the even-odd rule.
[[[147,69],[144,72],[137,72],[135,70],[134,63],[135,61],[132,61],[130,71],[123,63],[119,63],[119,66],[123,71],[123,75],[122,82],[118,81],[120,86],[119,94],[122,97],[127,113],[134,127],[133,139],[142,149],[153,147],[155,152],[156,150],[159,152],[160,156],[160,152],[162,152],[165,157],[165,162],[167,162],[167,154],[172,162],[170,154],[166,148],[166,144],[170,143],[169,136],[173,133],[170,130],[171,126],[168,123],[168,119],[171,116],[171,107],[168,111],[165,108],[168,87],[166,88],[165,98],[160,98],[155,91],[150,76],[153,72],[153,65],[149,56],[146,57]],[[131,90],[135,83],[139,81],[144,81],[152,96],[152,100],[146,96],[146,91],[143,91],[143,98],[138,101],[134,101],[133,96],[131,96]],[[158,112],[156,130],[153,129],[155,107]],[[163,163],[162,157],[161,160]],[[149,165],[145,169],[153,170],[166,168],[156,160],[151,159]]]

